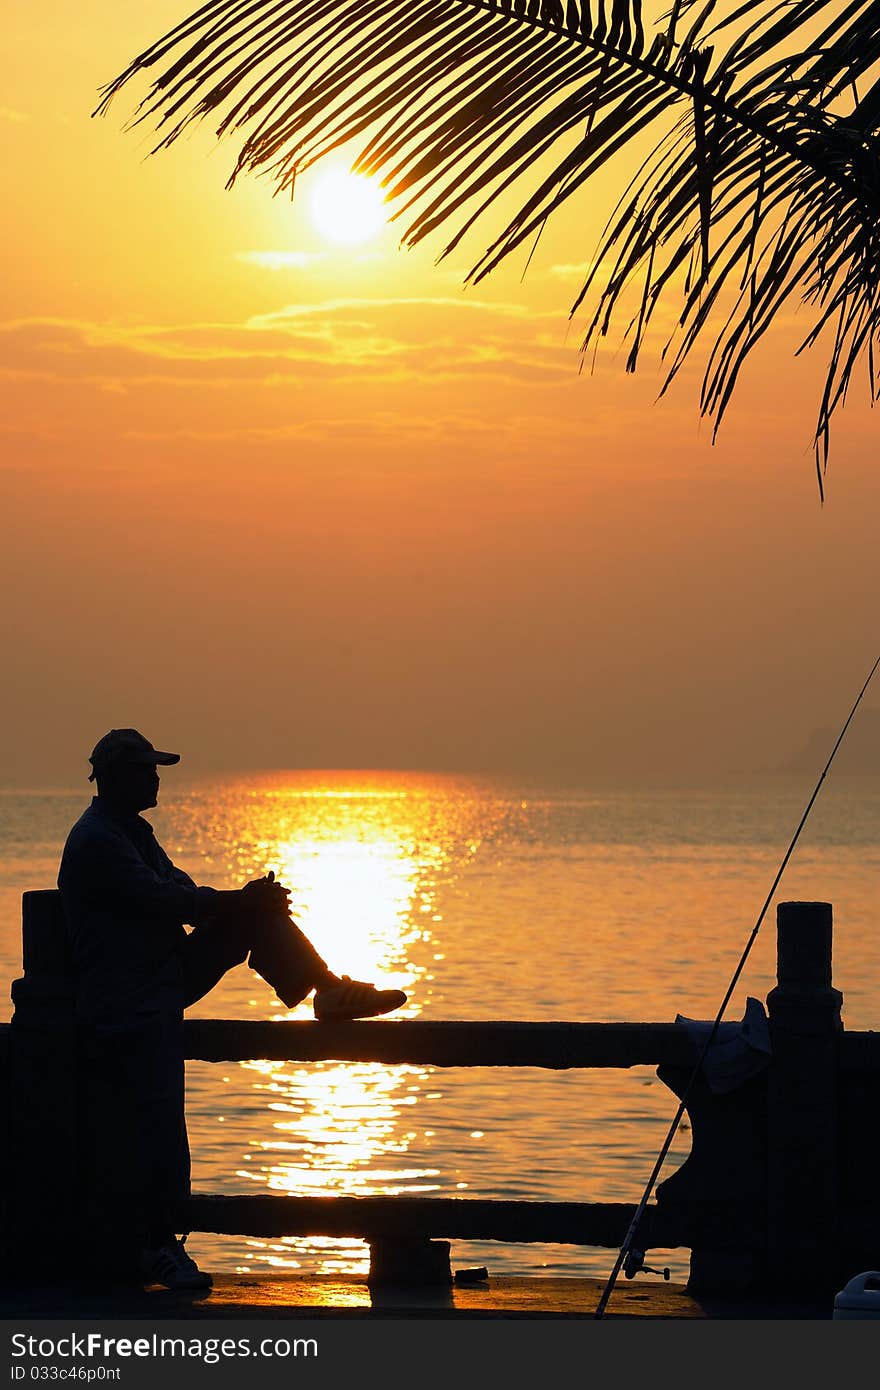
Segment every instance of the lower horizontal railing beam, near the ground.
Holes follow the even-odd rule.
[[[334,1236],[349,1240],[499,1240],[619,1250],[635,1208],[624,1202],[528,1202],[459,1197],[245,1197],[197,1194],[175,1213],[181,1230],[222,1236]],[[653,1207],[652,1247],[684,1245],[681,1225]]]

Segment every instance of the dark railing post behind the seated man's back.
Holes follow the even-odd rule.
[[[56,890],[22,894],[22,963],[11,990],[3,1240],[7,1262],[22,1273],[33,1262],[39,1275],[75,1259],[76,1029]]]

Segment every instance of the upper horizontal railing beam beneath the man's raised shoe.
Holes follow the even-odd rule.
[[[687,1066],[696,1052],[678,1023],[442,1023],[400,1019],[264,1023],[188,1019],[192,1061],[384,1062],[416,1066]]]

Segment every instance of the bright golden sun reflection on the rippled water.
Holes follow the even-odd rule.
[[[431,926],[439,920],[435,873],[445,851],[416,823],[417,803],[407,805],[399,787],[313,783],[263,788],[259,805],[260,834],[253,848],[231,856],[236,872],[256,851],[260,872],[271,869],[291,888],[295,920],[331,969],[405,990],[407,1004],[395,1017],[418,1015],[424,999],[417,986],[428,976]],[[413,948],[420,948],[421,963]],[[310,999],[292,1011],[274,1002],[272,1017],[311,1017]],[[412,1111],[421,1091],[431,1090],[428,1070],[359,1062],[241,1066],[261,1097],[263,1120],[247,1141],[238,1179],[311,1197],[438,1190],[439,1170],[406,1158],[420,1137]],[[367,1245],[342,1237],[250,1238],[247,1248],[275,1268],[299,1268],[306,1255],[323,1273],[366,1272],[368,1264]]]

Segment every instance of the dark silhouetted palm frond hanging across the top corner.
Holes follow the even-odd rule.
[[[880,0],[674,0],[645,33],[641,0],[210,0],[103,92],[150,78],[133,124],[156,149],[193,122],[239,136],[229,182],[299,171],[350,140],[381,177],[405,243],[455,222],[449,254],[509,189],[537,185],[474,265],[480,279],[621,150],[655,150],[608,222],[613,263],[584,338],[609,332],[624,292],[634,370],[660,299],[680,295],[666,386],[723,313],[701,410],[717,430],[740,373],[780,310],[813,311],[804,349],[830,335],[815,431],[829,427],[877,307]],[[576,309],[595,288],[588,277]],[[667,345],[667,350],[671,343]],[[666,388],[665,388],[666,389]]]

